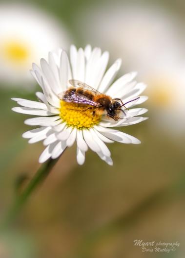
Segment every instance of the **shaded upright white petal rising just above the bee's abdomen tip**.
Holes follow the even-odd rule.
[[[60,78],[61,78],[61,84],[62,84],[61,92],[63,92],[67,89],[68,81],[72,79],[69,59],[65,51],[62,51],[62,54],[61,54]]]

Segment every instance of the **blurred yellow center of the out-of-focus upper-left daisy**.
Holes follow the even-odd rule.
[[[8,42],[4,46],[4,56],[13,63],[26,61],[29,56],[29,49],[20,42]]]

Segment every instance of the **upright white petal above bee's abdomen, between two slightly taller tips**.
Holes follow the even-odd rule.
[[[85,79],[85,56],[82,48],[79,48],[77,53],[77,63],[76,63],[76,78],[79,81],[84,82]]]

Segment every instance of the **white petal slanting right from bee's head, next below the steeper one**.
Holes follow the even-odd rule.
[[[115,95],[116,93],[118,93],[120,90],[123,89],[123,87],[131,82],[137,75],[137,72],[130,72],[130,73],[126,73],[124,74],[122,77],[120,77],[118,80],[116,80],[108,89],[107,93],[108,95]],[[119,96],[118,96],[119,97]]]

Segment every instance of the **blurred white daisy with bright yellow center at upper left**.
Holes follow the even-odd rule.
[[[23,85],[29,69],[48,51],[67,47],[69,35],[61,23],[26,4],[0,4],[0,80]],[[27,84],[23,85],[25,88]]]

